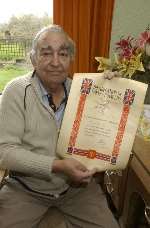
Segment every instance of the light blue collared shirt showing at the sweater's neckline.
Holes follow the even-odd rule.
[[[37,79],[38,79],[38,77],[37,77]],[[39,86],[40,86],[40,90],[41,90],[41,97],[42,97],[43,105],[45,105],[46,107],[49,107],[49,102],[48,102],[48,97],[47,97],[48,93],[39,79],[38,79],[38,82],[39,82]],[[65,98],[65,94],[64,94],[64,98]],[[58,128],[60,128],[60,126],[61,126],[61,122],[62,122],[62,119],[64,116],[64,111],[65,111],[65,106],[66,106],[65,102],[61,103],[55,112],[55,118],[56,118]]]

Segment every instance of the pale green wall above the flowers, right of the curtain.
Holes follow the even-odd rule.
[[[110,55],[121,36],[137,37],[150,25],[150,0],[115,0]]]

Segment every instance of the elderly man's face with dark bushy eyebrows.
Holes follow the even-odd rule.
[[[33,66],[43,85],[60,84],[68,76],[71,56],[64,34],[45,32],[41,34]]]

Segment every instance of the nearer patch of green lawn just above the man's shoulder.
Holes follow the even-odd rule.
[[[0,92],[3,91],[5,85],[13,78],[24,75],[30,70],[26,67],[21,66],[5,66],[5,68],[0,69]]]

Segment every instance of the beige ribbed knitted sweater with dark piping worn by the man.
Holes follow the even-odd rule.
[[[67,79],[69,92],[71,80]],[[31,74],[11,81],[0,102],[0,167],[43,193],[60,193],[68,185],[63,174],[51,172],[58,129],[54,113],[41,100],[39,83]]]

